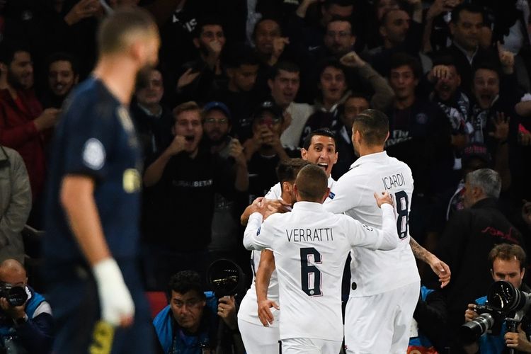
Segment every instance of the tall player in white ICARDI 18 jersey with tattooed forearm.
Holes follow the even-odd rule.
[[[329,212],[344,213],[380,228],[381,213],[372,193],[385,190],[394,198],[399,246],[391,251],[357,248],[350,254],[352,287],[345,314],[347,353],[406,353],[420,289],[413,252],[430,264],[442,286],[450,281],[447,265],[409,236],[413,178],[406,164],[384,152],[387,137],[389,119],[384,113],[364,110],[355,118],[352,139],[360,157],[334,185],[335,198],[324,204]]]

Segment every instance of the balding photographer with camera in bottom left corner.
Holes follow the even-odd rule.
[[[0,353],[50,353],[52,309],[14,259],[0,264]]]

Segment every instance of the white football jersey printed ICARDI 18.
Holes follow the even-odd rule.
[[[333,186],[335,197],[324,207],[335,214],[345,213],[371,227],[381,228],[374,193],[387,191],[393,196],[396,213],[396,238],[399,246],[391,251],[353,249],[350,255],[351,297],[365,297],[402,287],[420,280],[409,246],[408,217],[413,194],[411,169],[387,152],[360,156]]]

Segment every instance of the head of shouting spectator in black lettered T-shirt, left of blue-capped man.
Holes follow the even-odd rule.
[[[185,137],[185,152],[194,154],[202,137],[201,108],[194,101],[173,108],[173,135]]]

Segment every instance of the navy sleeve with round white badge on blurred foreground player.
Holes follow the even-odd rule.
[[[83,101],[69,107],[64,115],[66,138],[65,166],[67,174],[83,174],[103,179],[108,173],[115,141],[115,104],[98,102],[91,105]]]

